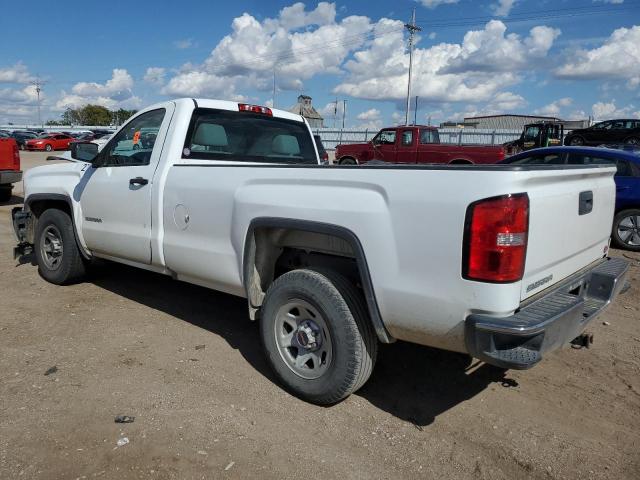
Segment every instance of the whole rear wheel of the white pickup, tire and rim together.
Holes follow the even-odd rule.
[[[264,300],[260,333],[282,384],[321,405],[364,385],[378,351],[362,294],[332,271],[294,270],[278,277]]]

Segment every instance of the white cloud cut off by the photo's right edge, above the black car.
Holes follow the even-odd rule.
[[[619,28],[597,48],[578,50],[555,70],[556,76],[570,79],[627,80],[634,88],[640,84],[640,26]]]

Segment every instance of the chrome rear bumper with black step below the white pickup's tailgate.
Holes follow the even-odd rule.
[[[607,258],[552,287],[509,317],[467,317],[467,351],[502,368],[527,369],[579,336],[620,293],[629,264]]]

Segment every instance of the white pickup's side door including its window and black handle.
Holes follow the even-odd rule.
[[[162,142],[142,145],[140,131],[164,138],[173,105],[143,113],[125,125],[89,166],[74,195],[81,229],[92,253],[151,263],[152,193]],[[157,187],[156,187],[157,188]]]

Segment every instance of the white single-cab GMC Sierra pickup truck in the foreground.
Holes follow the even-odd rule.
[[[26,174],[16,255],[56,284],[99,257],[246,297],[277,377],[316,403],[396,339],[529,368],[625,283],[611,167],[321,165],[304,118],[195,99],[72,157]]]

